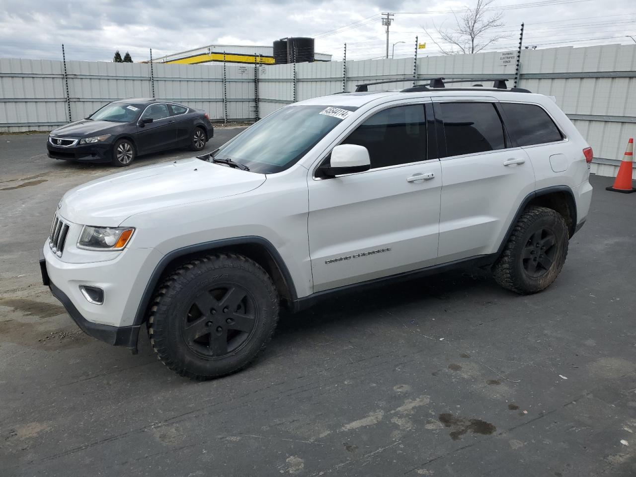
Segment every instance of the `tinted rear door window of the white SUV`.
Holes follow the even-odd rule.
[[[446,156],[504,149],[504,127],[489,102],[440,103],[446,134]]]

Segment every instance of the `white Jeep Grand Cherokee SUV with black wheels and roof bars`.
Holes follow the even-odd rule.
[[[297,102],[209,155],[68,191],[43,281],[88,335],[204,380],[279,307],[457,266],[535,293],[590,207],[591,149],[553,99],[495,83]],[[375,83],[374,83],[375,84]]]

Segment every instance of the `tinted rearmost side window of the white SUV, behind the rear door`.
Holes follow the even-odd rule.
[[[561,141],[563,136],[542,107],[502,102],[508,134],[518,146]]]

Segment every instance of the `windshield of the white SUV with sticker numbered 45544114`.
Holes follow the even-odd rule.
[[[280,172],[298,162],[342,121],[347,113],[343,109],[329,106],[283,107],[225,144],[215,157],[221,160],[230,158],[246,165],[252,172]],[[341,111],[341,114],[333,111]]]

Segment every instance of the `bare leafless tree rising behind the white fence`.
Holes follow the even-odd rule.
[[[493,1],[477,0],[475,7],[467,6],[466,12],[460,17],[453,13],[455,24],[457,24],[457,27],[453,29],[436,28],[441,43],[450,45],[450,47],[439,45],[426,29],[424,31],[445,55],[478,53],[495,41],[509,38],[509,35],[505,34],[488,34],[489,31],[504,26],[504,22],[501,21],[504,15],[501,11],[490,17],[487,16],[488,11],[492,10],[488,6]]]

